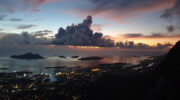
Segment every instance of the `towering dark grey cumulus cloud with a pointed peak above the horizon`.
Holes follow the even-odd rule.
[[[78,25],[68,26],[66,29],[60,28],[53,41],[58,45],[75,45],[75,46],[113,46],[114,41],[110,38],[103,37],[102,33],[93,33],[90,29],[92,17],[88,16]]]

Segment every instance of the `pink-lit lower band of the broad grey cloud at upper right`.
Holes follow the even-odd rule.
[[[158,0],[157,0],[158,1]],[[108,16],[109,20],[116,21],[118,23],[128,23],[127,19],[132,17],[139,17],[153,11],[160,11],[173,7],[175,0],[163,0],[163,2],[154,3],[150,6],[137,6],[135,8],[109,8],[100,11],[92,11],[95,16]]]

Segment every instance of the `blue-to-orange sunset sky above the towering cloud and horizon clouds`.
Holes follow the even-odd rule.
[[[49,30],[91,15],[94,32],[154,45],[180,40],[180,0],[0,0],[0,34]]]

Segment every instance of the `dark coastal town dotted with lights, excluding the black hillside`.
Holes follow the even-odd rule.
[[[126,63],[100,64],[95,67],[72,70],[67,73],[56,72],[54,75],[33,74],[25,71],[0,73],[0,98],[42,99],[51,97],[49,99],[52,99],[56,95],[59,99],[83,100],[87,98],[87,94],[89,95],[87,92],[92,85],[100,84],[101,82],[104,84],[104,82],[108,82],[112,78],[119,80],[117,81],[119,83],[125,77],[131,79],[139,77],[141,74],[151,73],[158,65],[158,59],[160,58],[153,57],[152,60],[144,60],[139,65]],[[147,66],[151,63],[155,64]],[[101,83],[102,86],[103,84]],[[48,91],[48,94],[45,91]]]

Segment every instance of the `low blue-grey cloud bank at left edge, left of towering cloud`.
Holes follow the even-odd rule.
[[[50,41],[44,38],[36,38],[35,35],[28,32],[22,32],[22,34],[2,34],[0,38],[1,45],[12,44],[49,44]]]

